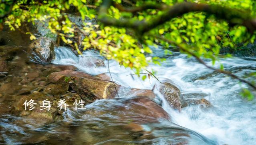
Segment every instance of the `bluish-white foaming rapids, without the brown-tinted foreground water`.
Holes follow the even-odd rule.
[[[177,85],[184,97],[202,98],[209,100],[213,107],[204,109],[198,106],[188,106],[182,109],[181,113],[174,111],[167,103],[162,106],[173,119],[173,123],[196,131],[217,144],[248,145],[256,143],[256,101],[246,101],[240,96],[241,88],[246,85],[215,73],[193,58],[187,58],[185,54],[173,52],[173,55],[165,56],[160,48],[153,49],[154,54],[165,57],[166,61],[157,64],[150,64],[148,70],[155,70],[160,80],[170,80]],[[89,56],[89,57],[88,57]],[[83,56],[75,56],[66,48],[56,49],[55,64],[72,64],[81,71],[97,75],[100,73],[112,73],[113,80],[125,87],[152,89],[157,80],[154,78],[142,81],[134,72],[128,68],[119,66],[117,62],[109,62],[107,68],[86,68],[83,63],[90,60],[90,57],[99,56],[94,51],[86,51]],[[149,56],[151,57],[151,56]],[[206,60],[212,65],[210,60]],[[107,61],[105,62],[107,64]],[[242,58],[228,58],[216,62],[220,63],[226,70],[242,77],[246,73],[256,70],[254,60]],[[127,97],[122,96],[121,97]],[[160,97],[160,99],[164,100]]]

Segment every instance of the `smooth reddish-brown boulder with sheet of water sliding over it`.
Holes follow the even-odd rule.
[[[120,121],[131,122],[135,124],[158,123],[159,119],[171,120],[169,114],[155,101],[147,97],[134,97],[124,100],[122,105],[114,105],[111,110],[108,109],[88,109],[85,111],[89,117],[95,115],[104,115],[109,113]]]

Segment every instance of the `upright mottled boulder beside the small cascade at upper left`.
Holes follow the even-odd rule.
[[[50,62],[55,58],[54,43],[48,38],[39,38],[34,40],[29,46],[36,55],[44,62]]]

